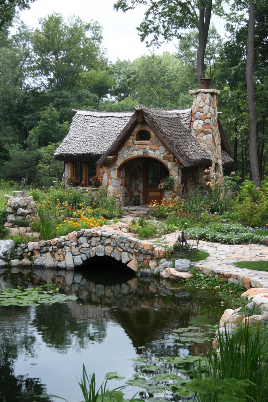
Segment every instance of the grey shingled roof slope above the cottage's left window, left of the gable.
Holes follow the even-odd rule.
[[[133,112],[79,110],[54,154],[56,160],[98,160],[129,122]]]

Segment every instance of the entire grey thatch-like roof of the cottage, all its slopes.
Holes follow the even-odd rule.
[[[145,121],[184,166],[207,166],[211,157],[189,131],[192,108],[142,110]],[[137,109],[136,108],[136,109]],[[70,131],[54,154],[56,160],[92,160],[103,166],[106,156],[113,155],[137,124],[135,111],[97,112],[78,110]],[[223,167],[233,162],[231,148],[218,118],[223,149]],[[226,155],[225,155],[226,154]]]

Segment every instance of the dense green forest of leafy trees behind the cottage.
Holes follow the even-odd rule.
[[[257,152],[260,178],[268,174],[267,59],[268,7],[257,2],[254,85],[257,111]],[[243,10],[242,10],[243,11]],[[244,13],[247,9],[245,8]],[[243,12],[242,14],[243,15]],[[10,26],[16,33],[10,35]],[[221,90],[221,123],[233,150],[241,181],[251,178],[249,116],[245,79],[247,18],[227,18],[227,37],[211,23],[205,52],[205,74],[211,88]],[[12,15],[0,33],[0,178],[49,187],[63,174],[53,153],[67,135],[74,109],[133,110],[191,107],[188,90],[199,87],[196,72],[198,31],[180,35],[172,54],[141,55],[133,62],[111,63],[102,47],[102,27],[53,13],[31,29]],[[82,144],[81,144],[82,146]]]

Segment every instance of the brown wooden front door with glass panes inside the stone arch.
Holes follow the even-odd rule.
[[[161,203],[163,190],[158,189],[160,181],[168,176],[168,169],[162,162],[153,158],[143,160],[143,183],[145,184],[145,204],[151,201]]]

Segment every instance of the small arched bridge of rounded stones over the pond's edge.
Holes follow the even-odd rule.
[[[159,275],[155,258],[164,258],[163,247],[143,240],[137,240],[122,222],[99,228],[81,229],[52,240],[29,242],[32,248],[35,267],[74,269],[94,256],[110,256],[127,266],[135,273],[139,263],[148,265],[143,275]],[[29,247],[30,246],[30,247]]]

